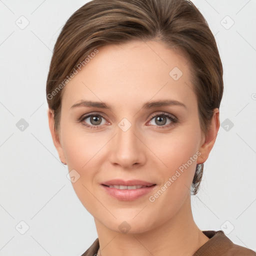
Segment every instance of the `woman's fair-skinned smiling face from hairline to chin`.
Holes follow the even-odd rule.
[[[190,200],[196,163],[210,149],[200,147],[205,136],[186,59],[155,41],[98,50],[64,87],[56,147],[94,219],[114,231],[126,221],[129,232],[143,232]],[[106,188],[112,179],[155,185]]]

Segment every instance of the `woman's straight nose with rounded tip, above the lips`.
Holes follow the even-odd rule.
[[[127,123],[125,123],[127,125]],[[126,130],[123,127],[116,126],[116,135],[110,143],[110,162],[119,165],[122,169],[131,169],[134,166],[143,165],[146,156],[146,146],[143,144],[143,138],[139,135],[135,125]]]

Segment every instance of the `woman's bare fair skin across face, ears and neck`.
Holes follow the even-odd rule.
[[[189,63],[164,44],[133,41],[98,50],[64,87],[59,135],[50,109],[48,119],[60,160],[69,171],[75,169],[80,175],[72,185],[94,217],[101,255],[192,255],[209,238],[193,220],[189,187],[196,163],[208,158],[215,142],[219,111],[214,109],[210,129],[203,134]],[[183,73],[178,80],[169,75],[175,66]],[[112,110],[71,108],[82,99],[106,102]],[[186,107],[142,109],[147,101],[163,99],[180,101]],[[162,111],[174,115],[178,122],[166,117],[159,124],[157,116],[151,118]],[[95,125],[97,122],[89,117],[77,121],[90,113],[102,114],[100,124]],[[118,126],[123,118],[131,123],[126,131]],[[82,122],[99,128],[86,127]],[[150,202],[148,197],[196,152],[200,152],[197,159]],[[100,185],[113,178],[141,179],[156,186],[149,194],[122,201],[108,195]],[[123,221],[130,226],[126,234],[118,228]]]

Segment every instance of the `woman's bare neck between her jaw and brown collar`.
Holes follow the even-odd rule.
[[[102,256],[192,256],[209,239],[193,220],[190,194],[173,217],[145,232],[123,234],[94,220]]]

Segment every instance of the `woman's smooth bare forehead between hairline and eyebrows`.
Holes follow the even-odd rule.
[[[68,107],[81,99],[132,107],[163,97],[196,101],[187,59],[156,41],[132,41],[99,47],[65,85],[62,101]]]

